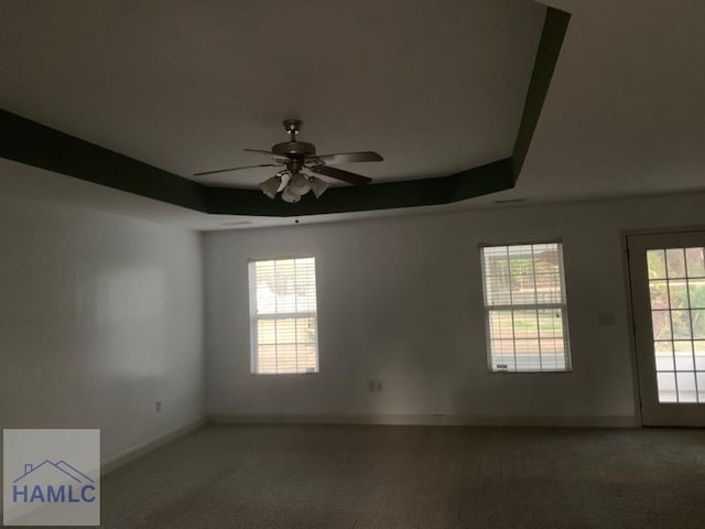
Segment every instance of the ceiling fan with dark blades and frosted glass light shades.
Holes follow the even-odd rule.
[[[369,184],[372,179],[362,176],[361,174],[351,173],[343,169],[333,168],[339,163],[358,163],[358,162],[381,162],[383,158],[377,152],[340,152],[337,154],[316,154],[316,145],[296,139],[303,122],[299,119],[285,119],[284,129],[290,136],[289,141],[276,143],[271,151],[262,151],[259,149],[245,149],[247,152],[258,154],[267,154],[272,158],[273,163],[260,163],[258,165],[246,165],[241,168],[217,169],[215,171],[205,171],[195,173],[194,176],[206,174],[226,173],[229,171],[240,171],[242,169],[253,168],[283,168],[271,179],[260,184],[260,190],[270,198],[275,198],[276,193],[281,191],[282,201],[295,203],[301,201],[310,191],[313,191],[318,198],[328,187],[328,183],[303,171],[311,171],[330,179],[341,180],[352,185]]]

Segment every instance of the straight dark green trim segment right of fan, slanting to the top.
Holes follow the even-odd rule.
[[[524,164],[524,159],[529,152],[531,139],[536,130],[543,101],[545,101],[546,95],[549,94],[553,71],[558,62],[558,55],[561,54],[561,47],[563,46],[563,40],[565,39],[565,32],[568,29],[570,21],[571,14],[565,11],[554,8],[546,10],[543,31],[541,32],[541,40],[539,41],[539,51],[536,52],[536,58],[533,63],[531,83],[529,83],[527,100],[524,101],[524,111],[521,116],[519,133],[517,134],[517,141],[514,142],[514,150],[512,152],[514,181],[519,177],[521,168]]]

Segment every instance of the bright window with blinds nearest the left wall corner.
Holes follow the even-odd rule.
[[[317,373],[313,257],[250,261],[252,373]]]

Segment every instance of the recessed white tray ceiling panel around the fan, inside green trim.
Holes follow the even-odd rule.
[[[10,1],[1,100],[187,177],[270,161],[242,149],[285,141],[288,117],[321,154],[381,152],[356,168],[378,182],[440,176],[511,154],[544,13],[529,0]]]

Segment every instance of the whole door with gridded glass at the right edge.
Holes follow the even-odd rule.
[[[705,425],[705,231],[627,237],[644,425]]]

